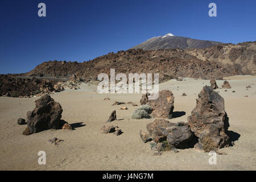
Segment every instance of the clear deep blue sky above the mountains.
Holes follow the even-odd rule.
[[[46,17],[38,4],[46,3]],[[208,5],[217,4],[217,17]],[[256,40],[256,1],[1,0],[0,73],[49,60],[88,61],[153,36],[239,43]]]

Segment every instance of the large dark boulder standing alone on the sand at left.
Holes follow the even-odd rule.
[[[27,126],[30,133],[38,133],[48,129],[60,129],[62,107],[49,95],[36,100],[36,107],[27,112]]]

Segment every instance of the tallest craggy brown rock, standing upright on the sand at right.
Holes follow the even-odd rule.
[[[205,151],[207,148],[229,146],[229,119],[225,112],[224,98],[210,86],[204,86],[198,97],[196,107],[188,117],[188,124],[199,138],[199,144]]]

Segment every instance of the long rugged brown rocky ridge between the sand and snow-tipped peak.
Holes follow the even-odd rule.
[[[96,80],[99,73],[160,73],[164,78],[218,78],[232,75],[255,75],[256,44],[221,44],[205,49],[160,49],[143,51],[129,49],[97,57],[84,63],[48,61],[38,65],[26,76],[76,75]]]

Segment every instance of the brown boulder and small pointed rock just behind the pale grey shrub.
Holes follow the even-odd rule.
[[[148,100],[150,94],[143,94],[141,104],[150,105],[154,118],[172,118],[174,111],[174,94],[170,90],[162,90],[156,100]]]

